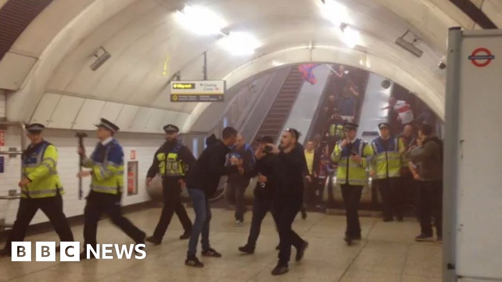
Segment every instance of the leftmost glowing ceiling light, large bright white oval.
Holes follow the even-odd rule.
[[[176,13],[176,19],[184,28],[200,35],[219,34],[226,26],[222,18],[200,6],[186,5]]]

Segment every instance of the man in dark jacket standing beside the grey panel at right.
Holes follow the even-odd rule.
[[[420,235],[416,241],[432,240],[431,215],[434,217],[437,241],[442,242],[442,204],[443,204],[443,145],[441,139],[433,135],[433,128],[424,124],[418,134],[422,139],[421,147],[411,148],[406,157],[420,163]]]

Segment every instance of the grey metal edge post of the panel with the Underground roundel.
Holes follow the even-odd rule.
[[[448,67],[446,69],[445,138],[443,161],[443,281],[455,282],[457,225],[457,166],[459,152],[459,91],[462,31],[448,32]]]

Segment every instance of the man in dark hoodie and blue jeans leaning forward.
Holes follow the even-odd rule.
[[[209,245],[209,222],[211,210],[208,199],[216,192],[220,177],[230,174],[243,174],[244,171],[238,166],[225,166],[226,155],[230,153],[230,147],[235,144],[237,131],[232,127],[225,127],[222,139],[216,139],[212,134],[206,139],[207,148],[202,152],[199,159],[190,170],[187,178],[188,194],[193,202],[195,221],[192,234],[188,243],[187,259],[185,265],[192,267],[204,267],[197,258],[197,243],[202,233],[202,256],[221,257]]]

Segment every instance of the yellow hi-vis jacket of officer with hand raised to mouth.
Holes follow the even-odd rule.
[[[338,167],[336,169],[336,183],[341,185],[347,184],[348,182],[349,185],[354,186],[366,185],[368,182],[368,174],[366,172],[368,162],[366,158],[373,155],[371,146],[363,140],[357,138],[354,142],[340,148],[340,144],[342,142],[343,140],[339,141],[335,145],[335,149],[331,154],[331,160],[333,162],[338,162]],[[352,161],[350,157],[353,154],[362,158],[360,163]]]

